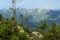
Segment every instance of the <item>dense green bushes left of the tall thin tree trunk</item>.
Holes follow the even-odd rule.
[[[11,35],[14,32],[15,23],[11,20],[0,22],[0,38],[2,40],[10,40]]]

